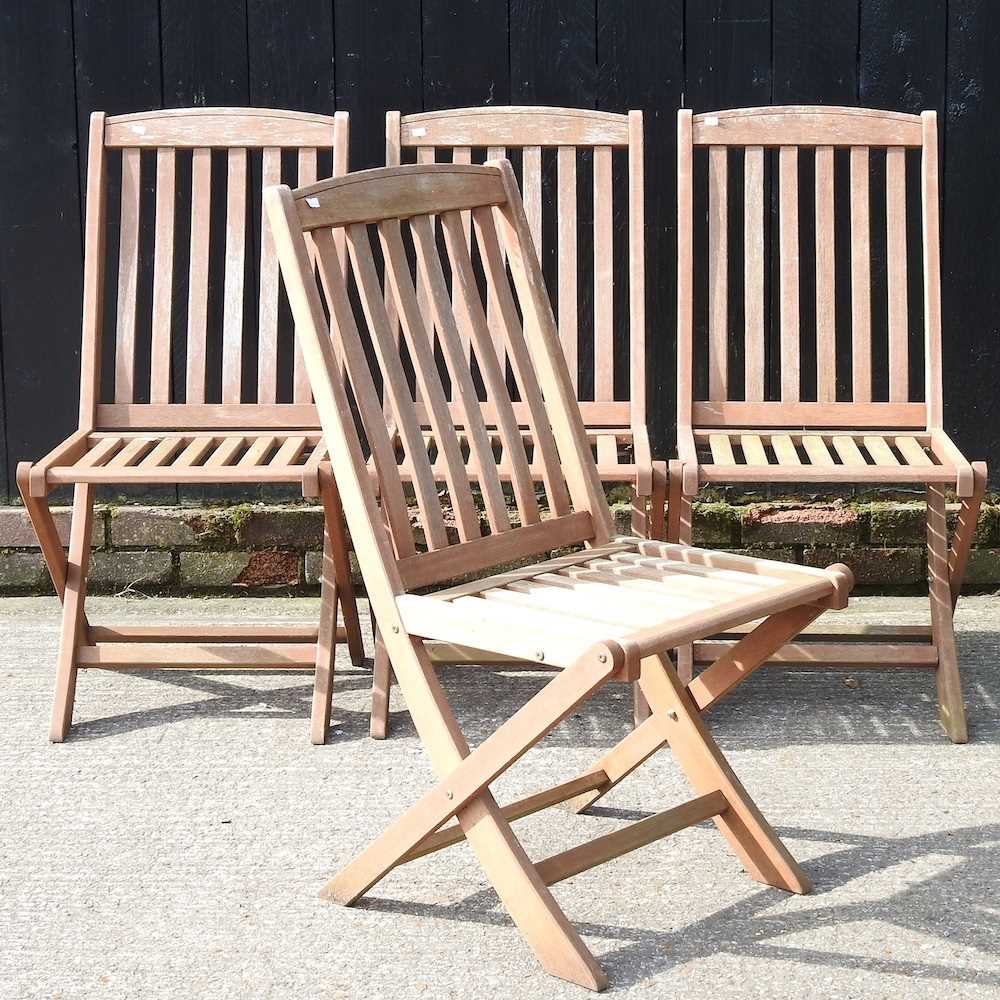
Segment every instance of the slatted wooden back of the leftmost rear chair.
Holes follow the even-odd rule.
[[[81,426],[318,426],[260,191],[345,173],[347,133],[344,112],[93,115]]]

